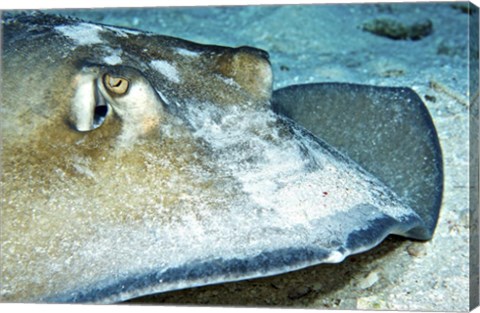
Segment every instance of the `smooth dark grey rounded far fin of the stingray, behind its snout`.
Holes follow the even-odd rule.
[[[424,224],[403,235],[432,237],[443,192],[442,153],[432,118],[413,90],[297,85],[276,90],[273,107],[348,155],[412,207]]]

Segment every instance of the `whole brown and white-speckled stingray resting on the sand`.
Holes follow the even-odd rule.
[[[268,53],[4,14],[1,297],[112,303],[432,237],[443,173],[409,88],[272,92]]]

